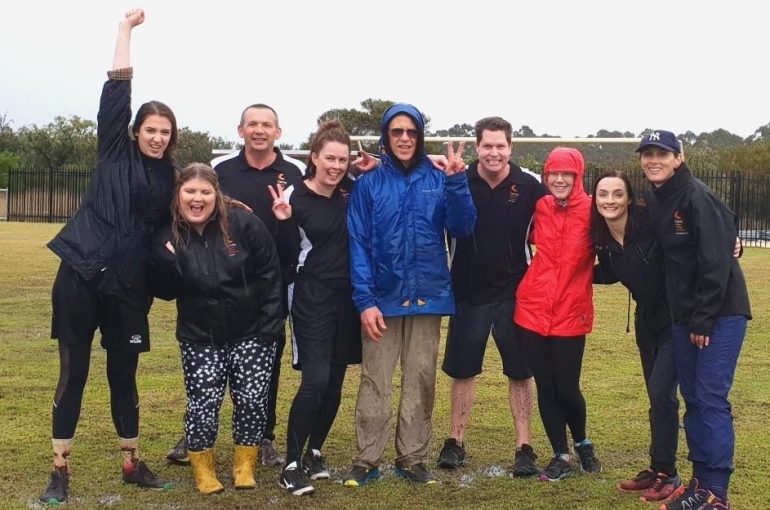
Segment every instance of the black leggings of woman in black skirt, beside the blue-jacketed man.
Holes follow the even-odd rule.
[[[302,363],[302,382],[289,411],[286,463],[299,464],[302,449],[321,450],[337,416],[347,365],[321,360]]]

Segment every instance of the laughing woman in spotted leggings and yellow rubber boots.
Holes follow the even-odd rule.
[[[272,235],[252,213],[232,207],[211,167],[193,163],[179,172],[171,224],[156,234],[154,244],[156,294],[176,298],[187,390],[185,436],[196,487],[203,494],[224,490],[214,444],[229,383],[234,486],[253,489],[271,367],[283,334]]]

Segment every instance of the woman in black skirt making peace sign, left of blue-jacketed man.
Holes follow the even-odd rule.
[[[279,250],[293,260],[289,287],[292,361],[302,382],[289,412],[280,484],[299,496],[329,478],[321,447],[337,416],[347,365],[361,362],[361,326],[353,305],[347,231],[350,136],[339,121],[321,124],[306,178],[270,188],[280,220]],[[304,455],[302,454],[305,450]]]

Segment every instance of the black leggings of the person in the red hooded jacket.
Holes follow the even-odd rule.
[[[586,401],[580,391],[586,337],[544,337],[523,328],[519,334],[535,376],[545,433],[555,454],[569,453],[567,426],[574,442],[586,438]]]

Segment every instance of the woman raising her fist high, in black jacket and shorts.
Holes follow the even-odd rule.
[[[136,369],[139,353],[150,349],[149,246],[153,231],[168,218],[177,126],[168,106],[152,101],[137,112],[133,139],[126,129],[131,120],[131,32],[143,21],[144,12],[133,10],[118,26],[113,66],[99,105],[98,162],[80,207],[48,245],[61,258],[51,298],[51,337],[59,340],[60,365],[53,404],[53,471],[40,496],[44,503],[69,497],[68,457],[96,328],[107,351],[123,481],[167,487],[139,460]]]

